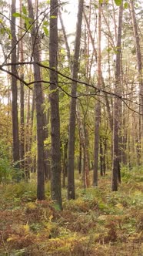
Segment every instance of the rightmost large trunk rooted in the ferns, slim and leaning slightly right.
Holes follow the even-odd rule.
[[[118,37],[116,46],[116,62],[115,62],[115,94],[121,96],[121,29],[122,29],[123,3],[119,7],[118,15]],[[119,150],[119,131],[121,125],[121,99],[115,97],[114,103],[114,125],[113,125],[113,167],[111,190],[118,190],[118,180],[121,182],[120,174],[120,153]]]

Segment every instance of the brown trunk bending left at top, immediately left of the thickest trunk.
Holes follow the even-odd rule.
[[[29,17],[34,20],[32,1],[28,0]],[[39,62],[39,42],[35,25],[32,26],[32,55],[34,62]],[[40,67],[34,63],[35,81],[41,80]],[[42,83],[35,83],[35,106],[36,106],[36,121],[37,121],[37,198],[43,200],[45,198],[45,182],[44,182],[44,136],[43,136],[43,96]]]

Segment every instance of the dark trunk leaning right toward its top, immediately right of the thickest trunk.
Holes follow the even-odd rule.
[[[73,61],[72,78],[78,79],[78,59],[81,40],[81,22],[83,12],[83,0],[78,2],[78,22],[75,37],[75,56]],[[71,87],[71,106],[69,119],[69,140],[68,140],[68,199],[75,199],[75,175],[74,175],[74,156],[75,156],[75,116],[76,116],[76,91],[77,83],[72,82]]]

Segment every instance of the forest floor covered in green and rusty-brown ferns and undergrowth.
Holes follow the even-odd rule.
[[[84,190],[77,174],[76,200],[62,190],[63,211],[49,199],[49,184],[43,201],[35,200],[35,178],[1,184],[0,255],[143,255],[143,177],[127,172],[122,180],[118,192],[111,192],[110,174]]]

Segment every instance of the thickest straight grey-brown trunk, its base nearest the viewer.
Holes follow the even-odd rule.
[[[53,19],[52,17],[55,17]],[[50,38],[49,38],[49,66],[58,68],[58,0],[50,2]],[[58,74],[50,71],[50,103],[51,103],[51,136],[52,136],[52,170],[51,192],[52,200],[62,209],[61,188],[61,152],[60,152],[60,117],[58,99]]]

